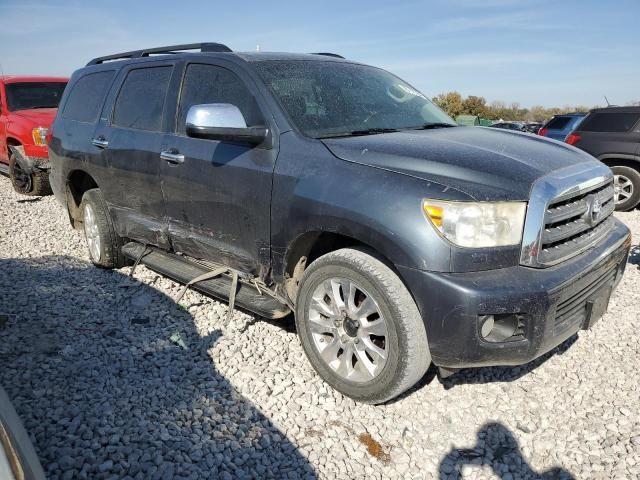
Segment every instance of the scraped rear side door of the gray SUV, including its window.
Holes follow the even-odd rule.
[[[165,107],[174,63],[149,62],[123,69],[110,93],[94,145],[102,149],[100,185],[117,233],[169,248],[160,179]]]

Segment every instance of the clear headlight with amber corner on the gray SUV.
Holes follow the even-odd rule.
[[[424,200],[426,217],[451,243],[483,248],[522,241],[526,202],[447,202]]]

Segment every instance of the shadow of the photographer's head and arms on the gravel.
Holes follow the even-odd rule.
[[[452,449],[440,462],[440,480],[457,480],[465,465],[489,466],[501,479],[542,478],[553,480],[575,479],[561,467],[546,472],[534,471],[520,451],[514,434],[501,423],[487,423],[478,430],[476,446]]]

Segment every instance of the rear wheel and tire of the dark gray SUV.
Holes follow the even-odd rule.
[[[122,238],[113,228],[100,189],[93,188],[84,193],[80,212],[91,262],[102,268],[124,267],[127,261],[121,250]]]

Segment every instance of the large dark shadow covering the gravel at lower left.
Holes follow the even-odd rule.
[[[316,478],[217,371],[220,331],[155,289],[72,257],[0,260],[0,314],[0,384],[47,478]]]

